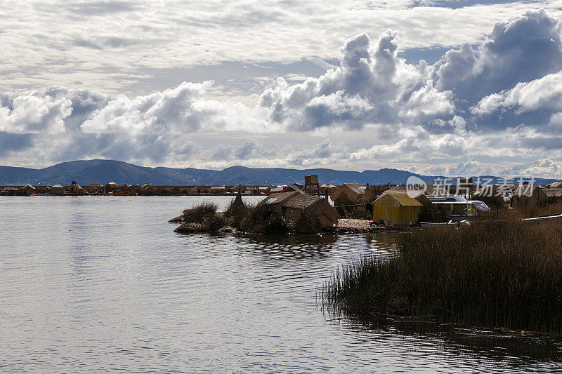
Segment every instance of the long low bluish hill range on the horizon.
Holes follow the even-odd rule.
[[[119,185],[131,183],[141,185],[292,185],[303,182],[304,175],[318,174],[321,183],[339,185],[349,183],[370,183],[379,185],[388,182],[402,185],[410,175],[415,175],[428,183],[435,178],[431,175],[419,175],[409,171],[391,168],[366,171],[337,171],[326,168],[287,169],[287,168],[246,168],[232,166],[223,171],[196,168],[145,168],[131,163],[112,160],[82,160],[58,163],[48,168],[15,168],[0,166],[0,185],[70,185],[76,180],[79,185],[90,183],[116,182]],[[476,178],[476,177],[473,177]],[[492,178],[494,182],[498,177]],[[537,183],[547,184],[554,179],[537,178]]]

